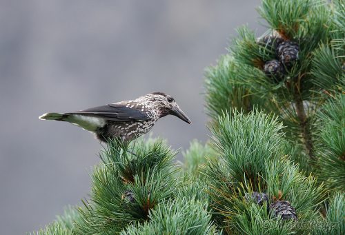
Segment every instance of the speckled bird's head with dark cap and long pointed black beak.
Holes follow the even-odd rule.
[[[177,116],[182,121],[186,123],[192,123],[188,116],[179,108],[179,105],[175,102],[172,96],[165,94],[163,92],[152,92],[146,95],[150,102],[158,109],[159,117],[166,116],[168,114]]]

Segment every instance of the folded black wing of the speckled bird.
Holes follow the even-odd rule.
[[[83,116],[93,116],[111,121],[146,121],[148,116],[145,112],[136,108],[129,108],[123,104],[109,104],[81,110],[78,112],[68,112],[67,114],[79,114]]]

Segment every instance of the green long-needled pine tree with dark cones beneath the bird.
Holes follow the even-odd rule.
[[[263,0],[206,69],[210,141],[109,141],[90,198],[34,234],[345,234],[345,4]]]

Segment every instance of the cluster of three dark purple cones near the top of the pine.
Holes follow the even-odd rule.
[[[286,70],[298,59],[299,45],[294,41],[283,39],[277,32],[260,38],[258,43],[268,50],[273,50],[276,55],[276,59],[265,62],[265,74],[276,82],[282,81]]]

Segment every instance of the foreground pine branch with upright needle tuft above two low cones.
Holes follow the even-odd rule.
[[[324,188],[313,176],[304,176],[286,157],[275,118],[255,110],[250,114],[234,111],[220,116],[211,127],[215,150],[221,161],[210,163],[206,178],[217,215],[215,221],[226,232],[235,234],[307,234],[311,228],[294,227],[293,221],[273,220],[268,203],[275,198],[289,201],[298,218],[319,220],[317,212],[324,198]],[[246,194],[265,192],[269,202],[257,205]],[[268,223],[263,227],[262,223]],[[268,229],[268,230],[267,230]],[[268,232],[269,231],[269,232]]]

